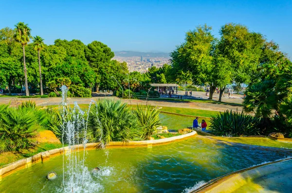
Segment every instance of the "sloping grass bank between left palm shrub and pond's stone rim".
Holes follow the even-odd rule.
[[[0,154],[0,168],[3,166],[23,158],[29,158],[40,152],[48,151],[62,147],[62,144],[40,143],[35,148],[21,150],[20,152],[4,152]]]

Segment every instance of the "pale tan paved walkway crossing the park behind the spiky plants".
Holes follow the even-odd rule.
[[[201,94],[201,93],[200,93]],[[97,100],[97,99],[104,99],[106,97],[93,97],[93,98],[68,98],[68,102],[70,104],[73,104],[74,102],[77,102],[77,104],[89,104],[91,100]],[[114,100],[117,100],[116,97],[108,97],[112,98]],[[11,102],[12,106],[16,106],[21,104],[24,101],[34,101],[37,105],[40,106],[47,106],[47,105],[59,105],[61,103],[61,98],[55,97],[55,98],[31,98],[31,99],[22,99],[22,98],[16,98],[16,97],[1,97],[0,98],[0,104],[9,104]],[[160,99],[161,100],[161,99]],[[154,105],[154,106],[170,106],[170,107],[183,107],[183,108],[194,108],[194,109],[202,109],[202,110],[213,110],[213,111],[224,111],[226,109],[229,110],[236,110],[239,111],[242,110],[241,106],[237,105],[225,105],[225,104],[213,104],[213,103],[204,103],[204,102],[189,102],[189,101],[153,101],[153,99],[146,102],[146,100],[137,100],[137,99],[131,99],[130,101],[128,99],[122,100],[125,103],[132,104],[132,105]]]

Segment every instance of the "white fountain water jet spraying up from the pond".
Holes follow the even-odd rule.
[[[103,187],[92,179],[91,173],[84,165],[86,158],[86,135],[88,115],[74,103],[73,108],[68,105],[66,86],[62,90],[62,143],[68,144],[68,151],[63,154],[63,188],[59,192],[65,193],[93,193],[100,192]],[[87,115],[85,120],[85,115]],[[80,145],[79,145],[80,144]],[[79,151],[83,148],[83,151]]]

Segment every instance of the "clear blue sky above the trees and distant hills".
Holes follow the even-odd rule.
[[[113,51],[171,52],[197,25],[246,25],[292,57],[292,0],[1,0],[0,28],[19,21],[46,44],[101,41]]]

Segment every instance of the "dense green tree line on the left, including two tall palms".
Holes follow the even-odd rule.
[[[117,83],[112,76],[122,82],[128,68],[125,62],[112,60],[113,56],[98,41],[85,45],[80,40],[56,39],[54,45],[45,45],[40,36],[32,37],[27,24],[19,22],[15,29],[0,30],[0,88],[7,87],[11,94],[25,85],[26,95],[29,90],[58,95],[61,85],[114,89]]]

